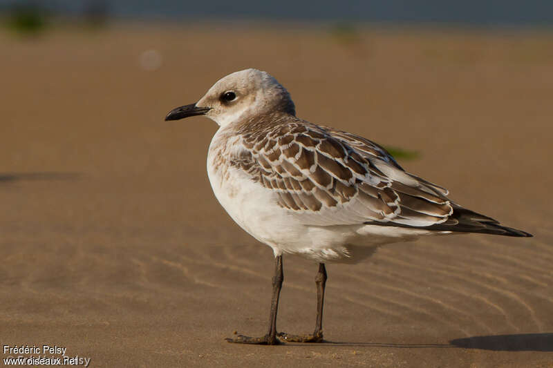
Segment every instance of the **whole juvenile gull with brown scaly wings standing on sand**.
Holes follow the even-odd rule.
[[[267,72],[227,75],[165,119],[194,115],[219,125],[207,155],[217,200],[275,257],[268,333],[229,342],[321,342],[326,262],[359,262],[379,245],[422,235],[532,236],[449,200],[446,189],[404,171],[382,146],[299,119],[288,91]],[[277,333],[283,253],[319,263],[312,334]]]

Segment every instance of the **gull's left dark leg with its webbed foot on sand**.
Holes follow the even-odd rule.
[[[279,309],[279,296],[283,281],[282,255],[278,255],[274,258],[274,276],[272,277],[272,299],[268,333],[261,338],[250,338],[249,336],[238,335],[237,338],[226,338],[225,340],[227,340],[227,342],[256,345],[277,345],[280,343],[277,338],[277,310]]]

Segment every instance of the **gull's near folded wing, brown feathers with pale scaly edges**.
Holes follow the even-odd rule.
[[[279,206],[313,226],[375,224],[435,231],[512,234],[463,209],[447,190],[410,173],[381,146],[297,119],[250,129],[235,164],[276,193]],[[523,233],[523,232],[522,232]]]

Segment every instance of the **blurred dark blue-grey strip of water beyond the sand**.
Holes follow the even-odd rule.
[[[253,0],[2,0],[6,8],[27,6],[71,17],[104,15],[118,19],[277,19],[281,21],[433,22],[472,26],[536,26],[553,20],[547,0],[505,1],[292,1]]]

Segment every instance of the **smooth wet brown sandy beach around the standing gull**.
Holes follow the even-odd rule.
[[[90,367],[553,367],[553,32],[228,27],[0,30],[2,344]],[[328,264],[328,342],[228,344],[265,333],[272,251],[214,198],[216,124],[163,118],[249,67],[299,117],[418,153],[400,164],[534,238]],[[285,256],[279,331],[315,327],[316,271]]]

